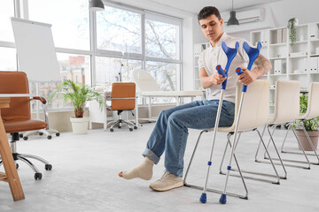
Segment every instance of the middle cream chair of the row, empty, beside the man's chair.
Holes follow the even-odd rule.
[[[277,125],[289,124],[289,129],[291,129],[292,122],[294,120],[296,120],[299,117],[299,115],[300,115],[300,81],[295,81],[295,80],[284,80],[284,81],[278,80],[278,81],[276,81],[275,112],[274,112],[274,114],[269,115],[268,123],[267,123],[267,125],[265,125],[263,132],[262,132],[262,135],[263,135],[263,133],[265,132],[265,129],[267,128],[268,134],[270,136],[270,139],[268,141],[268,145],[269,145],[270,140],[272,142],[274,142],[273,134],[275,133]],[[272,133],[270,133],[271,127],[273,127]],[[292,132],[300,144],[300,140],[298,139],[293,128],[292,128]],[[257,152],[256,152],[256,157],[255,157],[256,162],[268,163],[266,161],[258,159],[259,148],[257,149]],[[276,150],[276,152],[278,152],[276,146],[275,146],[275,150]],[[280,164],[283,167],[284,167],[284,165],[286,165],[286,166],[310,169],[310,163],[309,163],[309,160],[307,158],[307,155],[305,154],[305,150],[302,147],[301,147],[301,150],[303,152],[303,155],[305,155],[305,158],[306,158],[306,161],[304,161],[304,162],[300,162],[297,160],[282,159],[281,156],[279,156],[279,155],[278,155],[278,158],[272,158],[272,159],[279,160]],[[264,155],[264,158],[268,159],[268,157],[266,155]],[[284,164],[283,161],[289,162],[289,163]],[[307,163],[307,166],[294,165],[291,163]],[[286,177],[287,172],[285,169],[284,169],[284,173],[285,173],[285,177]]]

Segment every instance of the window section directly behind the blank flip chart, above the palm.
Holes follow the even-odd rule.
[[[41,6],[39,6],[41,5]],[[57,52],[61,79],[91,84],[90,54],[80,52],[89,50],[89,1],[87,0],[28,0],[29,19],[52,25],[52,35]],[[72,10],[70,10],[72,8]],[[63,53],[66,49],[67,52]],[[48,98],[58,83],[31,82],[32,95]],[[37,87],[37,88],[36,88]],[[35,109],[35,103],[32,105]],[[49,102],[49,109],[71,108],[71,104],[58,98]]]

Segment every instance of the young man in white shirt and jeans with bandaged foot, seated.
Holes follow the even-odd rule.
[[[203,87],[209,89],[207,100],[161,111],[144,150],[144,162],[132,170],[119,173],[121,178],[149,180],[152,178],[153,164],[159,163],[159,157],[165,151],[166,172],[162,178],[150,185],[155,191],[167,191],[183,186],[183,155],[188,128],[203,130],[214,127],[221,84],[226,79],[215,70],[217,64],[222,64],[222,68],[225,68],[227,63],[222,42],[226,42],[231,48],[239,42],[239,49],[228,72],[228,85],[224,92],[219,126],[230,126],[234,121],[237,81],[249,85],[271,69],[268,59],[260,55],[254,62],[255,68],[250,72],[246,70],[249,58],[243,49],[245,40],[230,37],[222,32],[223,19],[217,8],[204,7],[198,14],[198,21],[203,34],[211,44],[198,59],[200,82]],[[238,66],[244,71],[240,76],[235,72]]]

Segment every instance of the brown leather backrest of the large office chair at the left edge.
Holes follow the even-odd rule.
[[[0,72],[0,94],[29,94],[27,74],[25,72]],[[30,98],[11,98],[10,108],[2,109],[1,116],[4,121],[31,119]]]

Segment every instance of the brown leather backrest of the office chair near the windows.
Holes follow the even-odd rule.
[[[112,110],[134,110],[136,105],[136,84],[114,82],[112,84]]]

